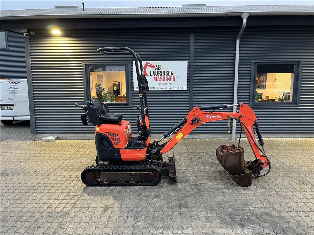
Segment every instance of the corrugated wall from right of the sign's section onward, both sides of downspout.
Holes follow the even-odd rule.
[[[237,34],[238,31],[230,30],[195,30],[194,106],[233,103]],[[238,102],[249,104],[251,63],[254,60],[303,60],[299,106],[253,106],[262,133],[313,133],[313,31],[245,29],[240,40]],[[227,122],[221,121],[202,125],[193,133],[227,133],[227,130]]]

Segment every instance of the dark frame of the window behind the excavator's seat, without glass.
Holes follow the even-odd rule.
[[[83,79],[84,79],[84,101],[90,100],[90,66],[125,66],[126,75],[126,103],[107,102],[108,107],[132,107],[132,83],[131,83],[131,63],[112,63],[108,61],[89,63],[83,62]]]

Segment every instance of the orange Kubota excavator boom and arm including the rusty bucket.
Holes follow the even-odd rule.
[[[230,106],[233,105],[229,105],[229,107]],[[249,186],[251,185],[252,174],[255,177],[263,176],[260,175],[260,171],[268,165],[270,170],[270,161],[263,149],[263,138],[257,123],[257,118],[252,108],[244,103],[240,103],[239,110],[237,112],[214,112],[216,109],[224,109],[227,107],[227,105],[194,107],[187,114],[186,118],[164,134],[164,137],[167,137],[171,133],[178,130],[177,133],[160,150],[160,154],[168,152],[181,139],[187,136],[187,134],[191,133],[192,130],[203,123],[235,119],[240,123],[241,128],[246,134],[256,160],[244,162],[244,150],[241,146],[236,147],[234,145],[219,146],[216,150],[216,155],[221,165],[231,178],[236,181],[236,183],[242,186]],[[212,112],[206,112],[205,110],[212,110]],[[257,135],[258,142],[255,138],[255,133]],[[259,147],[258,144],[261,147]],[[268,172],[266,174],[268,174]]]

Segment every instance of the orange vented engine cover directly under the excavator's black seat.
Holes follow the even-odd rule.
[[[95,134],[102,133],[107,135],[115,148],[125,148],[132,137],[131,124],[122,120],[119,124],[102,124],[95,126]]]

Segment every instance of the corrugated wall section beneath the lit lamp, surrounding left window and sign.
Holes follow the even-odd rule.
[[[131,56],[105,56],[96,52],[105,46],[130,47],[143,60],[189,61],[190,31],[99,29],[68,32],[64,37],[36,32],[30,37],[36,133],[92,133],[94,126],[83,126],[80,121],[83,110],[73,105],[84,102],[82,63],[132,61]],[[138,105],[138,91],[132,91],[132,108],[110,108],[110,111],[122,113],[136,130]],[[189,90],[150,91],[149,108],[152,133],[165,132],[189,111]]]

